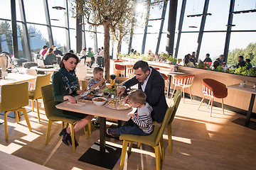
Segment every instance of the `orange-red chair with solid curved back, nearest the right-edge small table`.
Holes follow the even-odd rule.
[[[226,88],[225,84],[220,83],[219,81],[215,81],[214,79],[203,79],[203,99],[206,96],[210,96],[210,101],[208,103],[208,108],[210,106],[210,117],[213,112],[213,98],[221,98],[222,101],[222,108],[223,108],[223,98],[228,96],[228,89]],[[203,99],[201,103],[198,106],[198,110],[203,103]],[[223,114],[224,114],[224,108],[223,108]]]

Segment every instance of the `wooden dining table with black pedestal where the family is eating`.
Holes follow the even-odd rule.
[[[80,96],[77,96],[77,98],[80,98]],[[106,105],[95,106],[95,104],[92,102],[79,102],[79,103],[71,104],[68,101],[65,101],[63,103],[58,104],[56,106],[56,108],[62,109],[65,111],[73,111],[73,112],[84,113],[84,114],[88,114],[88,115],[95,115],[95,116],[100,117],[100,150],[97,151],[96,153],[94,152],[95,153],[94,155],[90,154],[87,156],[88,160],[92,159],[92,158],[97,159],[97,162],[99,164],[101,162],[105,162],[106,159],[110,159],[108,157],[108,154],[111,151],[110,151],[110,149],[106,148],[106,144],[105,144],[106,118],[127,121],[130,118],[128,116],[128,113],[135,112],[134,108],[130,108],[129,110],[125,110],[125,111],[117,111],[117,110],[113,110],[111,108],[107,108]],[[95,146],[93,146],[93,145],[90,148],[93,148],[93,147],[95,148]],[[107,152],[107,154],[105,154],[106,152]],[[115,159],[115,158],[113,157],[112,159]],[[88,162],[90,163],[90,161],[88,161]],[[95,165],[97,165],[97,164],[95,164]]]

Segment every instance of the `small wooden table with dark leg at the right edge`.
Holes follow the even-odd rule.
[[[246,121],[245,121],[245,126],[248,126],[249,123],[250,123],[252,108],[253,108],[253,104],[254,104],[254,101],[255,101],[256,90],[252,89],[252,86],[241,87],[240,84],[234,84],[234,85],[231,85],[231,86],[227,86],[227,88],[236,89],[236,90],[239,90],[239,91],[243,91],[245,93],[252,94],[251,98],[250,98],[249,108],[248,108],[248,111],[247,111],[247,118],[246,118]]]

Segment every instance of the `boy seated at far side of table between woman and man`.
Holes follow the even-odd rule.
[[[88,82],[88,90],[92,90],[99,86],[100,89],[106,88],[105,79],[103,78],[103,69],[101,67],[95,67],[93,69],[93,77]],[[95,128],[100,128],[100,117],[96,117],[96,120],[92,121],[92,124]]]

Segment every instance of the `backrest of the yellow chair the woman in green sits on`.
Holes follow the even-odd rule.
[[[41,88],[43,96],[43,105],[45,108],[47,118],[54,114],[54,98],[53,98],[53,85],[49,84],[47,86],[42,86]]]

